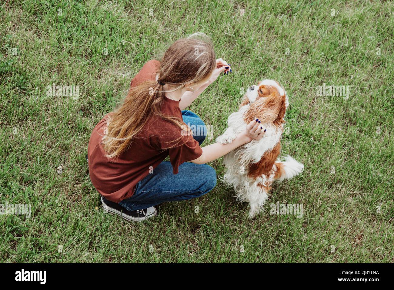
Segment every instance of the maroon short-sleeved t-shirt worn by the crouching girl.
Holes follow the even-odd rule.
[[[137,86],[145,80],[155,80],[160,63],[147,62],[131,81]],[[165,98],[162,113],[182,120],[179,101]],[[101,141],[107,133],[108,114],[96,125],[91,134],[87,155],[90,179],[101,195],[113,202],[120,202],[134,194],[135,185],[156,168],[167,156],[178,173],[178,166],[201,156],[203,150],[191,135],[184,135],[173,123],[152,116],[130,148],[119,158],[108,158]],[[182,137],[180,140],[178,138]],[[174,146],[175,145],[175,146]],[[174,146],[172,148],[169,148]],[[166,149],[169,148],[169,149]]]

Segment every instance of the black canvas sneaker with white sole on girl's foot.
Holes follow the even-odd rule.
[[[120,204],[112,202],[104,196],[101,196],[100,200],[105,211],[119,215],[126,221],[145,221],[145,219],[154,217],[157,214],[157,210],[154,206],[144,208],[143,210],[128,211]]]

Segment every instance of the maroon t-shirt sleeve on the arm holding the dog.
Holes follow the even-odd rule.
[[[184,136],[180,146],[169,148],[170,162],[173,167],[173,174],[178,174],[178,167],[186,161],[197,159],[203,154],[203,150],[193,136]]]

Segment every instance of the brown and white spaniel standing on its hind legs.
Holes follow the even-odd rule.
[[[252,140],[224,157],[223,181],[232,185],[241,202],[249,202],[249,218],[260,212],[274,180],[282,181],[300,174],[304,165],[290,156],[277,159],[281,152],[284,114],[289,105],[286,91],[275,80],[253,85],[244,96],[238,112],[227,120],[229,127],[216,142],[229,144],[245,126],[258,118],[267,131],[260,140]]]

